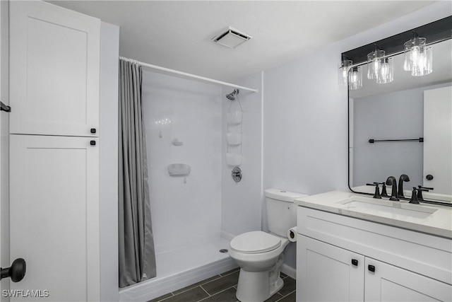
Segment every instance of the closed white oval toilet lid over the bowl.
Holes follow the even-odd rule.
[[[253,231],[234,237],[230,245],[237,252],[256,254],[275,250],[281,245],[281,239],[263,231]]]

